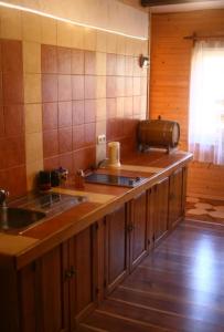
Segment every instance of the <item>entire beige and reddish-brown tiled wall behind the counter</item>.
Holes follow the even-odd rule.
[[[146,42],[1,9],[0,187],[31,190],[42,168],[94,164],[96,137],[135,146],[147,108]],[[103,154],[104,155],[104,154]]]

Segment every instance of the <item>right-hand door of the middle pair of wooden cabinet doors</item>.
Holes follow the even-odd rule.
[[[143,191],[129,203],[130,269],[134,269],[147,255],[147,191]]]

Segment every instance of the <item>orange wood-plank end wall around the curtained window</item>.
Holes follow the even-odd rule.
[[[152,14],[150,117],[178,121],[180,148],[188,148],[189,83],[192,41],[184,35],[224,34],[224,10]],[[224,167],[192,163],[188,191],[224,199]]]

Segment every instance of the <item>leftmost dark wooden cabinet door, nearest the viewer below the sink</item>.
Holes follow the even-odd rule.
[[[68,331],[66,243],[19,272],[21,332]]]

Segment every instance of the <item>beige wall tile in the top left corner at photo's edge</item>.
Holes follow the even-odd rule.
[[[21,12],[15,9],[1,8],[1,38],[22,40]]]

